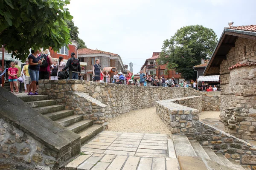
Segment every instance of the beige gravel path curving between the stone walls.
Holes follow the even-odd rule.
[[[156,108],[145,108],[120,114],[111,118],[109,131],[171,134],[167,126],[156,113]]]

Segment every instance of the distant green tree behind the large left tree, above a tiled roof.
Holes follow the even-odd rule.
[[[78,49],[81,48],[87,48],[87,46],[85,45],[84,41],[78,37],[79,31],[78,31],[78,27],[75,26],[73,21],[67,21],[67,25],[68,28],[70,28],[70,37],[72,40],[76,40],[78,42]]]

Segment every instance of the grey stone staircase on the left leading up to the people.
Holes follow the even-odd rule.
[[[47,95],[19,97],[39,113],[81,136],[81,144],[103,130],[102,125],[93,125],[93,120],[84,120],[83,115],[74,114],[73,110],[65,110],[64,105],[49,100]]]

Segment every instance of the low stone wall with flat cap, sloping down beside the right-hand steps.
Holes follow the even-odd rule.
[[[192,99],[192,98],[191,98]],[[172,134],[185,134],[189,140],[197,140],[202,146],[210,146],[223,153],[227,159],[256,168],[256,147],[231,136],[199,120],[199,111],[174,103],[172,100],[157,101],[156,111]]]

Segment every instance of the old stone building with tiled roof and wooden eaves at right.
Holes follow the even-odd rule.
[[[226,132],[256,140],[256,25],[224,28],[204,71],[220,74]]]

